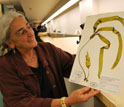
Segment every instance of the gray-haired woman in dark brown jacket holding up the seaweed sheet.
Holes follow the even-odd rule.
[[[10,11],[0,17],[0,38],[0,90],[5,107],[67,107],[99,93],[84,87],[67,97],[63,77],[69,77],[74,55],[50,43],[37,43],[22,14]]]

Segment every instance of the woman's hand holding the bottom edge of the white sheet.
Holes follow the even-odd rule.
[[[78,89],[70,94],[69,97],[65,99],[65,103],[69,106],[72,104],[82,103],[88,101],[91,97],[98,94],[100,91],[84,87]]]

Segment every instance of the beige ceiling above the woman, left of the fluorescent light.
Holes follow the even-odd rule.
[[[43,22],[69,0],[0,0],[1,4],[14,5],[32,22]]]

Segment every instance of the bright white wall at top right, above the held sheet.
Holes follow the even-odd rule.
[[[124,0],[81,0],[79,8],[81,23],[85,23],[89,15],[124,11],[123,2]]]

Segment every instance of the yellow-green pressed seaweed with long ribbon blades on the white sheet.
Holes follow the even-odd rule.
[[[114,69],[120,59],[121,59],[121,55],[122,55],[122,38],[121,38],[121,34],[119,33],[118,30],[116,30],[114,27],[102,27],[102,28],[99,28],[97,29],[98,25],[100,23],[104,23],[104,22],[108,22],[108,21],[119,21],[121,22],[121,24],[124,26],[124,19],[119,17],[119,16],[111,16],[111,17],[104,17],[104,18],[100,18],[98,19],[94,26],[93,26],[93,30],[94,30],[94,33],[90,36],[90,39],[81,47],[80,51],[79,51],[79,55],[78,55],[78,59],[79,59],[79,65],[80,67],[82,68],[83,70],[83,73],[84,73],[84,81],[88,81],[88,76],[89,76],[89,71],[88,71],[88,76],[86,76],[86,71],[84,70],[83,66],[81,65],[81,62],[80,62],[80,53],[81,53],[81,50],[86,46],[86,44],[91,40],[93,39],[96,35],[98,35],[98,37],[104,42],[106,43],[107,45],[106,46],[103,46],[102,48],[100,48],[100,54],[99,54],[99,71],[98,71],[98,77],[100,78],[100,75],[101,75],[101,72],[102,72],[102,67],[103,67],[103,54],[104,54],[104,49],[108,49],[110,47],[110,41],[107,40],[105,37],[103,37],[102,35],[99,34],[100,31],[112,31],[114,34],[116,34],[118,36],[118,41],[119,41],[119,47],[118,47],[118,52],[117,52],[117,56],[116,56],[116,60],[112,66],[111,69]],[[86,55],[86,67],[89,69],[89,67],[91,66],[91,62],[90,62],[90,58],[89,58],[89,54],[87,52],[87,55]]]

